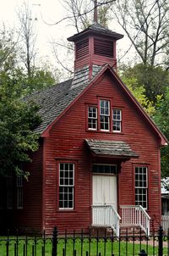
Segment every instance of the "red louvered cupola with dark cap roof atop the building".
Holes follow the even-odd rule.
[[[110,31],[94,22],[85,31],[68,38],[74,42],[74,71],[89,67],[90,77],[95,65],[117,67],[116,43],[123,35]]]

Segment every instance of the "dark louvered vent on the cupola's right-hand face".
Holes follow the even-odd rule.
[[[113,42],[94,39],[94,53],[113,58]]]

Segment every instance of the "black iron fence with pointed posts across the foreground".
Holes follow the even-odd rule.
[[[0,237],[0,256],[169,256],[169,234],[162,228],[145,236],[142,231],[126,230],[116,237],[109,229],[89,232],[57,232],[51,237],[44,231],[40,236]]]

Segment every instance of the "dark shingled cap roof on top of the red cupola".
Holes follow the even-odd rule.
[[[74,36],[68,37],[68,41],[74,42],[77,39],[79,39],[81,36],[85,34],[90,34],[90,33],[99,35],[99,36],[103,35],[103,36],[112,37],[116,40],[123,38],[122,34],[118,34],[114,31],[110,31],[106,27],[95,22],[92,25],[90,25],[87,29],[85,29],[85,31],[81,31],[80,33],[75,34]]]

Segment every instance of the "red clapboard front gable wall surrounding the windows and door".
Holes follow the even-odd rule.
[[[112,108],[123,110],[123,132],[86,131],[86,104],[98,103],[99,97],[111,100]],[[120,140],[128,142],[139,153],[139,159],[131,159],[122,164],[118,176],[118,205],[134,203],[134,164],[148,164],[149,168],[149,214],[159,220],[159,146],[157,138],[144,122],[134,105],[128,102],[123,92],[112,84],[106,76],[100,83],[92,86],[74,104],[61,120],[53,125],[50,136],[46,138],[46,198],[45,227],[51,232],[53,225],[63,229],[87,229],[91,223],[91,156],[85,147],[85,138]],[[75,209],[59,211],[57,204],[57,163],[60,160],[76,161]],[[113,164],[113,159],[111,160]],[[126,182],[128,181],[128,182]]]

